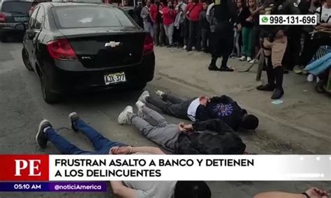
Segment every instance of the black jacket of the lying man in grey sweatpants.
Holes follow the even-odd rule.
[[[181,132],[175,146],[175,154],[242,154],[246,144],[232,132],[213,135],[209,132]]]

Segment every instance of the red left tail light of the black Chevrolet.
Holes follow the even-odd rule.
[[[53,40],[47,43],[47,50],[53,59],[73,61],[77,60],[75,51],[66,39]]]

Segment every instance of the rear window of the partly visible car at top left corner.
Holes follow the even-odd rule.
[[[21,14],[21,15],[29,16],[29,10],[31,6],[32,6],[31,2],[5,1],[2,3],[1,11],[3,13],[13,13],[13,14]]]

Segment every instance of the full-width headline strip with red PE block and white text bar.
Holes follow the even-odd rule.
[[[0,160],[0,181],[331,181],[331,155],[0,155]]]

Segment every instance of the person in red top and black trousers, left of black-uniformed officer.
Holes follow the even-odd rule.
[[[193,0],[186,8],[186,15],[189,18],[189,45],[186,49],[188,52],[193,50],[193,45],[200,51],[199,17],[202,10],[203,4],[199,0]]]

